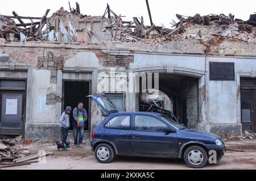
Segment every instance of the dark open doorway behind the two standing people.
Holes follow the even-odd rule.
[[[79,102],[84,103],[84,108],[88,113],[88,121],[85,123],[85,131],[90,131],[90,108],[89,99],[86,98],[90,94],[90,82],[82,81],[65,81],[64,82],[64,108],[67,106],[72,107],[70,116],[70,131],[73,130],[73,110],[77,107]]]

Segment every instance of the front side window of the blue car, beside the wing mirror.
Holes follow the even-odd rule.
[[[135,116],[136,131],[162,132],[163,128],[168,128],[168,126],[154,117],[143,115]]]

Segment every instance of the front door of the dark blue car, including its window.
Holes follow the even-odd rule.
[[[139,155],[176,155],[177,133],[164,133],[170,128],[163,120],[152,115],[134,115],[131,146]]]

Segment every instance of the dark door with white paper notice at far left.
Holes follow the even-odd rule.
[[[0,135],[24,137],[26,80],[0,80]]]

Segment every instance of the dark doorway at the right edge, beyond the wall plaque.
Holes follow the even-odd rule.
[[[242,131],[256,132],[256,79],[241,78]]]

